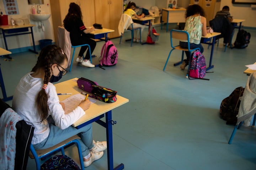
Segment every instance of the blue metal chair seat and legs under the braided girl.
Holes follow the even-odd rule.
[[[47,148],[47,149],[42,149],[42,150],[35,150],[33,145],[30,145],[30,158],[31,159],[35,159],[36,161],[36,169],[40,170],[40,160],[41,158],[45,158],[47,156],[53,155],[55,154],[55,152],[59,152],[61,151],[62,154],[64,155],[64,147],[67,147],[71,144],[76,144],[76,147],[78,148],[78,154],[79,154],[79,158],[80,158],[80,164],[81,164],[81,169],[84,170],[84,162],[83,162],[83,157],[82,157],[82,151],[81,151],[81,146],[79,141],[77,140],[78,138],[80,138],[78,135],[72,136],[68,139],[66,139],[63,142],[58,143],[57,145]]]

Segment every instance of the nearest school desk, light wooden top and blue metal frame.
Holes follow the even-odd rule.
[[[70,79],[62,83],[55,84],[57,93],[72,93],[78,94],[84,92],[78,88],[76,81],[78,78]],[[59,100],[63,101],[70,95],[59,95]],[[89,97],[90,98],[90,97]],[[94,99],[96,100],[96,99]],[[113,167],[113,138],[112,138],[112,125],[116,124],[116,121],[112,120],[112,110],[125,103],[129,102],[127,98],[117,95],[117,101],[114,103],[104,103],[96,100],[92,103],[90,108],[85,112],[86,114],[82,116],[78,121],[76,121],[73,126],[76,128],[82,128],[90,123],[96,122],[106,128],[107,134],[107,158],[108,158],[108,170],[121,170],[124,169],[124,164],[118,165],[116,168]],[[106,123],[100,118],[103,118],[105,114]]]

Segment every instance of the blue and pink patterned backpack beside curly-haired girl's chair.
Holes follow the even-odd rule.
[[[205,58],[199,50],[192,53],[190,59],[189,78],[204,79],[206,75]],[[204,79],[209,80],[209,79]]]

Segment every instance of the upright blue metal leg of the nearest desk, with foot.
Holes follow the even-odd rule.
[[[124,169],[124,164],[118,165],[113,168],[113,135],[112,125],[116,122],[112,120],[112,111],[106,112],[106,133],[107,133],[107,158],[108,158],[108,170],[121,170]]]

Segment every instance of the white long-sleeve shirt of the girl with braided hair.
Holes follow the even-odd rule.
[[[18,83],[12,99],[12,108],[24,118],[27,124],[35,128],[32,144],[36,144],[48,137],[50,129],[47,120],[39,123],[41,120],[37,110],[36,97],[38,92],[42,90],[43,79],[33,78],[32,73],[26,74]],[[85,114],[79,106],[72,112],[65,114],[59,104],[56,88],[52,83],[48,83],[45,91],[48,94],[49,115],[52,115],[55,125],[60,129],[68,128]]]

